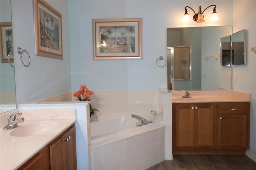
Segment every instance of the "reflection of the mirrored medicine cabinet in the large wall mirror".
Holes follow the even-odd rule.
[[[220,65],[230,66],[231,36],[220,39]]]

